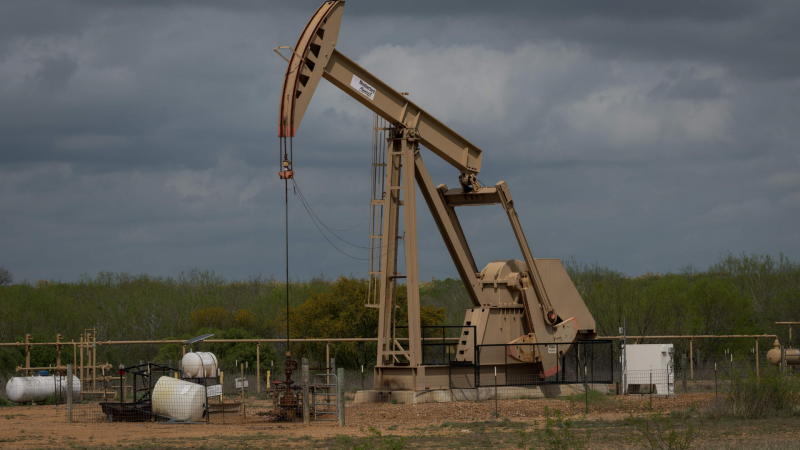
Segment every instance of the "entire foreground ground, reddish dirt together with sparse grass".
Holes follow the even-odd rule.
[[[714,394],[678,398],[608,396],[594,399],[589,414],[580,397],[427,404],[347,404],[347,426],[232,421],[226,424],[79,423],[65,421],[64,407],[0,408],[0,448],[524,448],[541,427],[545,408],[573,420],[585,448],[650,448],[628,421],[653,413],[698,410]],[[800,418],[731,420],[706,417],[696,424],[692,448],[800,448]],[[380,434],[380,435],[378,435]],[[537,445],[537,448],[540,448]],[[548,448],[547,446],[541,448]]]

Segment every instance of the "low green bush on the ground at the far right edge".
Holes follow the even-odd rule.
[[[797,414],[800,382],[777,368],[766,367],[761,376],[733,374],[725,399],[715,405],[714,412],[727,417],[755,419],[782,414]]]

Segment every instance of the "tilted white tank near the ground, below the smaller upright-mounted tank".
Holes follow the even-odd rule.
[[[206,401],[205,387],[163,376],[153,388],[153,413],[175,420],[200,422]]]

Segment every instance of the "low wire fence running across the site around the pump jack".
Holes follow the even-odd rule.
[[[717,393],[721,396],[728,391],[733,377],[772,369],[766,363],[765,350],[703,355],[695,352],[691,358],[688,353],[671,355],[667,369],[628,370],[623,378],[620,348],[611,341],[477,346],[476,363],[470,365],[457,360],[457,345],[447,340],[448,334],[439,336],[438,344],[426,341],[424,357],[449,364],[439,365],[443,372],[416,378],[416,389],[407,392],[368,395],[375,390],[371,367],[347,369],[339,377],[334,364],[312,366],[308,376],[309,388],[304,392],[299,368],[292,374],[290,386],[293,389],[285,389],[287,380],[282,362],[280,367],[276,364],[279,371],[263,370],[263,365],[258,371],[247,362],[223,364],[217,377],[205,379],[184,379],[180,364],[169,362],[114,369],[110,365],[99,365],[96,373],[74,375],[73,403],[71,408],[64,410],[74,422],[299,421],[303,419],[303,398],[307,397],[311,420],[323,420],[335,418],[338,414],[340,395],[337,389],[340,384],[341,397],[348,401],[406,404],[554,398],[579,396],[587,391],[608,395]],[[557,370],[543,374],[541,368],[531,363],[536,358],[551,358],[555,362],[549,367]],[[787,368],[787,372],[793,371],[793,366]],[[330,376],[334,373],[336,377]],[[23,378],[12,378],[8,385],[2,383],[0,402],[8,402],[9,386],[14,380]],[[36,383],[53,384],[49,391],[51,394],[43,397],[31,388],[31,395],[35,398],[25,400],[25,403],[59,405],[67,402],[68,377],[51,375],[40,378]],[[14,383],[18,382],[22,381]],[[287,398],[285,394],[288,391],[292,395]],[[458,408],[456,404],[453,407]]]

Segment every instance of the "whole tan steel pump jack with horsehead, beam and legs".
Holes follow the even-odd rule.
[[[426,371],[428,375],[441,371],[438,369],[441,366],[422,364],[415,181],[474,304],[466,311],[456,360],[475,362],[475,345],[511,344],[506,345],[505,352],[500,355],[504,360],[518,364],[519,369],[531,374],[554,375],[561,368],[560,357],[571,343],[597,336],[594,318],[561,262],[534,259],[531,255],[507,184],[500,181],[488,187],[478,183],[482,150],[336,49],[344,3],[325,2],[293,48],[275,49],[278,54],[281,54],[280,49],[291,50],[288,59],[284,57],[288,65],[281,92],[278,130],[282,139],[297,133],[322,78],[392,125],[385,160],[385,194],[384,199],[379,200],[384,214],[381,237],[383,243],[398,242],[398,211],[400,207],[405,208],[406,275],[397,271],[396,245],[385,245],[379,273],[380,301],[367,305],[379,309],[376,389],[415,389],[411,381],[406,380],[425,375]],[[423,163],[420,144],[458,169],[460,188],[434,186]],[[507,213],[524,261],[492,261],[479,272],[455,208],[496,204],[502,205]],[[407,344],[405,340],[394,339],[393,333],[394,288],[397,278],[403,277],[406,278],[409,306]],[[530,343],[563,345],[522,345]],[[481,356],[480,364],[497,364],[491,359]]]

